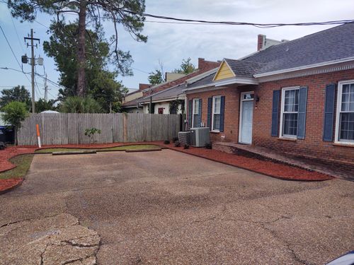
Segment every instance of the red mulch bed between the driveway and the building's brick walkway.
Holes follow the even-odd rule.
[[[241,167],[246,170],[268,175],[278,179],[299,180],[299,181],[323,181],[334,179],[329,175],[325,175],[315,171],[304,170],[299,167],[292,167],[281,163],[275,163],[268,160],[260,160],[258,158],[249,158],[243,155],[235,155],[232,153],[224,153],[222,151],[210,150],[206,148],[183,149],[183,147],[175,147],[173,144],[164,145],[172,150],[182,153],[188,153],[200,158],[207,158],[226,165]]]

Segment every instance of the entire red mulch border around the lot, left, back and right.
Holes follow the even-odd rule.
[[[43,148],[108,148],[115,146],[130,146],[137,144],[156,144],[161,147],[170,148],[182,153],[188,153],[190,155],[196,155],[200,158],[206,158],[219,163],[227,165],[233,165],[235,167],[241,167],[246,170],[258,172],[270,177],[276,177],[278,179],[287,180],[300,180],[300,181],[322,181],[333,179],[329,175],[324,175],[319,172],[312,172],[303,170],[298,167],[292,167],[290,165],[284,165],[267,160],[260,160],[257,158],[248,158],[242,155],[234,155],[231,153],[224,153],[217,150],[208,150],[206,148],[193,148],[183,149],[183,147],[174,147],[173,143],[165,145],[162,142],[139,142],[139,143],[95,143],[95,144],[64,144],[57,146],[42,146]],[[36,146],[10,146],[5,150],[0,151],[0,172],[11,170],[13,165],[8,160],[16,155],[22,155],[26,153],[34,153],[39,149]],[[23,182],[21,178],[13,179],[0,179],[0,193],[7,189],[17,187]]]

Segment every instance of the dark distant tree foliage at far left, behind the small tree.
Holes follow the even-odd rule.
[[[3,108],[9,102],[18,101],[25,103],[27,110],[30,110],[30,92],[25,86],[16,86],[14,88],[4,89],[1,91],[0,107]]]

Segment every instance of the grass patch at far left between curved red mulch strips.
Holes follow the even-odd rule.
[[[16,165],[12,170],[7,170],[0,173],[0,179],[10,179],[13,177],[24,177],[30,168],[32,163],[33,154],[17,155],[14,158],[10,158],[9,161]]]

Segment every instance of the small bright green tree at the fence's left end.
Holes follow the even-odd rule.
[[[27,106],[25,102],[12,101],[9,102],[2,111],[1,118],[6,124],[13,125],[15,127],[15,144],[18,144],[17,132],[21,128],[21,122],[28,116]]]

